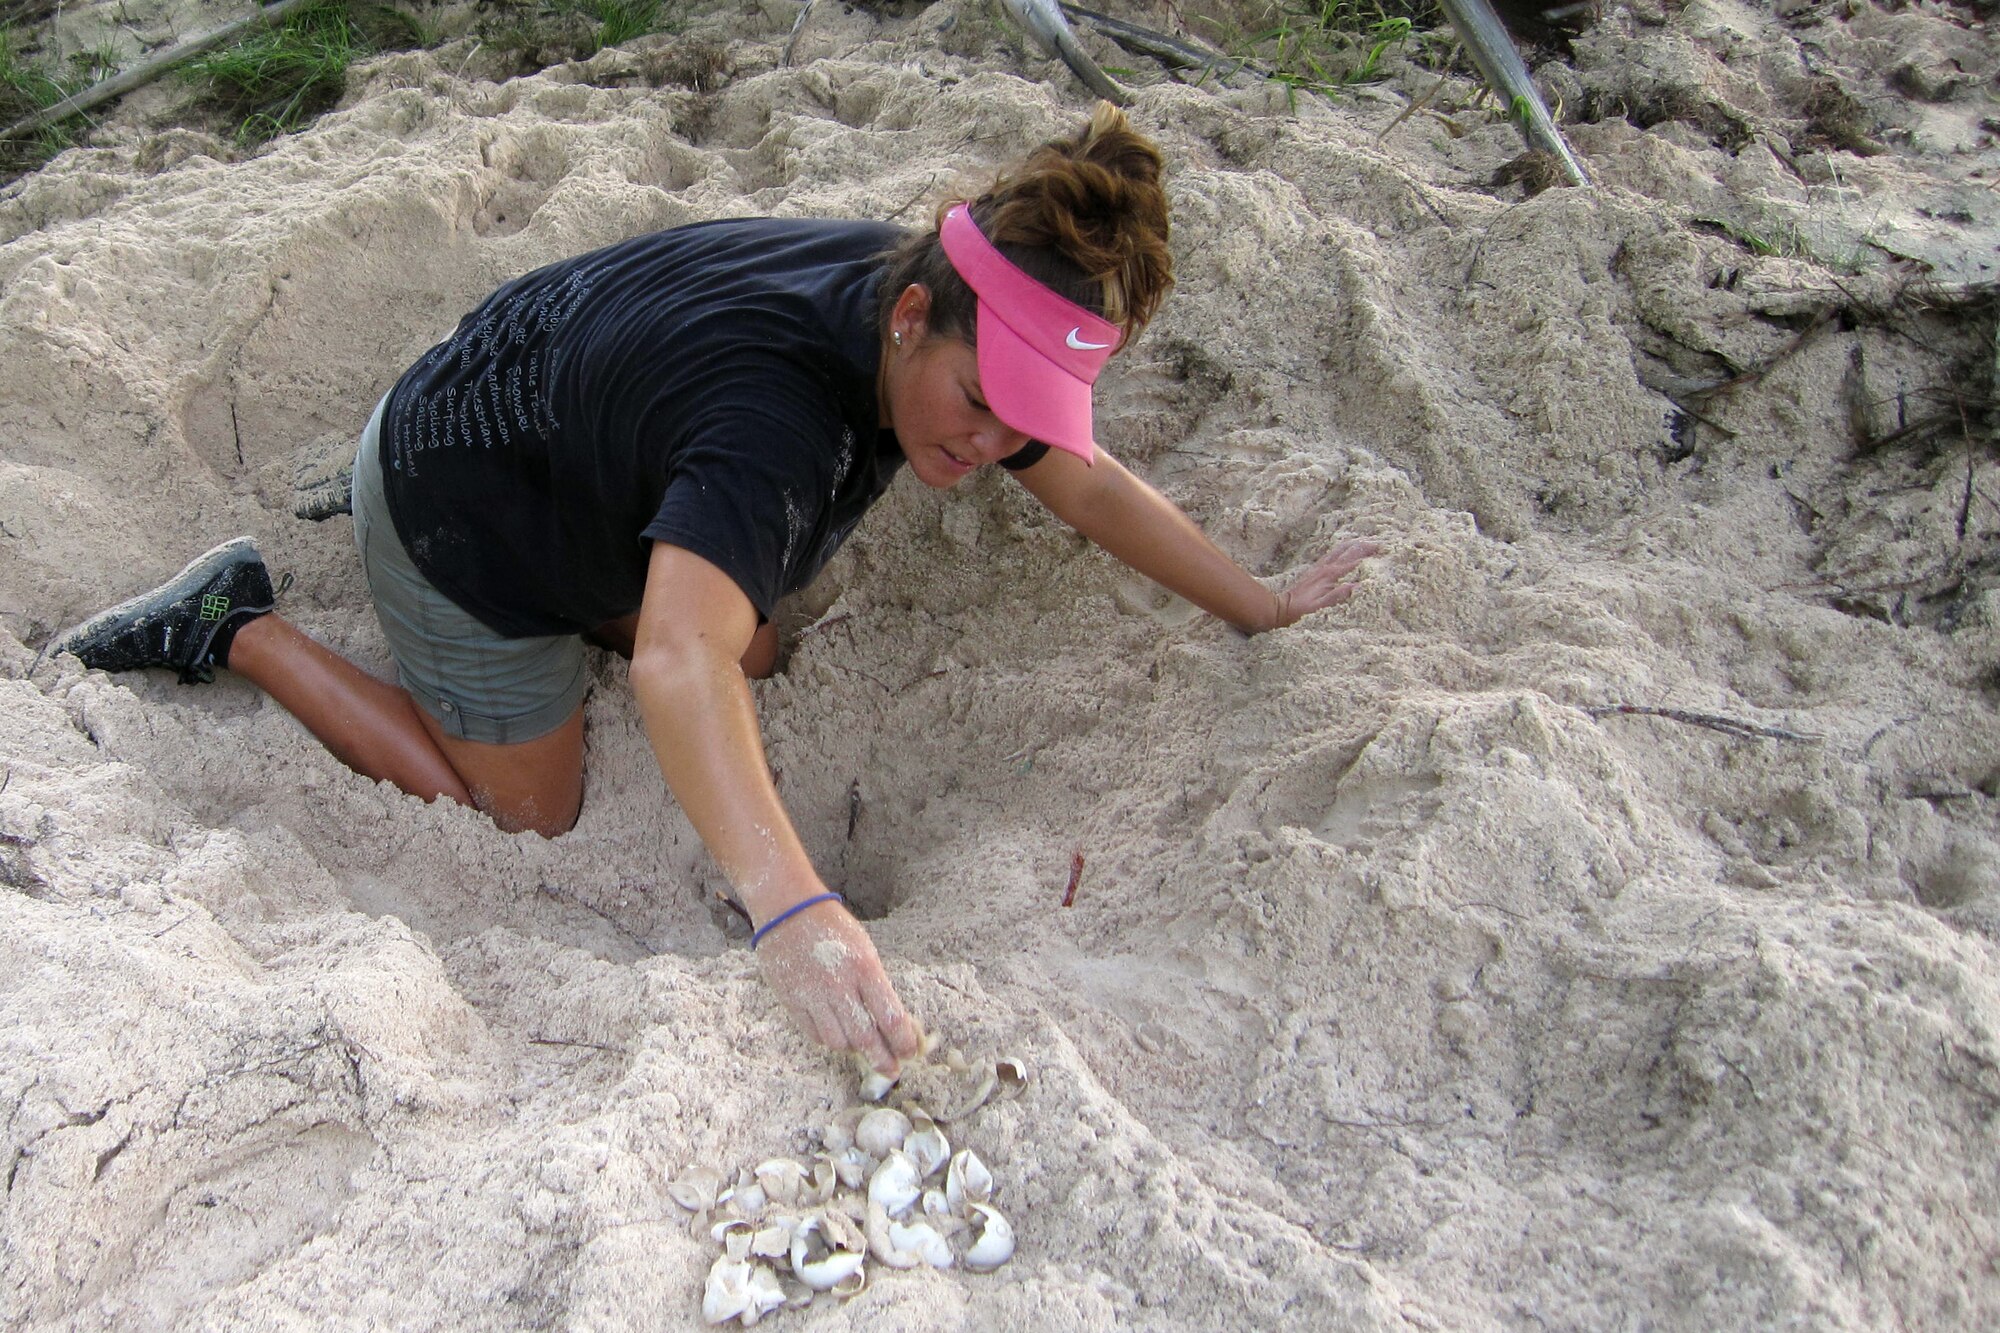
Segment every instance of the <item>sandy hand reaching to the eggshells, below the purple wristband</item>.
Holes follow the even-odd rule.
[[[834,1051],[858,1051],[882,1075],[918,1051],[918,1027],[896,999],[874,941],[840,903],[816,903],[756,949],[764,981],[800,1031]]]

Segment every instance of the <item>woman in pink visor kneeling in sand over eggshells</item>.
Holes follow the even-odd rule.
[[[1092,440],[1098,370],[1172,282],[1160,150],[1100,104],[924,234],[728,220],[494,292],[382,398],[354,538],[386,685],[272,612],[248,538],[54,646],[88,666],[234,671],[358,773],[554,837],[584,793],[584,636],[632,656],[660,773],[804,1031],[892,1073],[916,1025],[806,859],[746,675],[904,464],[998,462],[1056,516],[1246,632],[1352,592],[1342,542],[1272,592]]]

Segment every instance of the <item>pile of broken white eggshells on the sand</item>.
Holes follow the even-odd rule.
[[[822,1293],[858,1295],[870,1257],[892,1269],[928,1263],[974,1273],[1014,1257],[1014,1227],[992,1205],[992,1171],[972,1149],[954,1153],[942,1125],[956,1131],[988,1101],[1020,1095],[1026,1069],[1000,1059],[974,1075],[956,1051],[946,1067],[972,1075],[970,1093],[948,1115],[928,1115],[912,1095],[848,1107],[820,1131],[810,1163],[774,1157],[734,1181],[690,1167],[668,1185],[674,1203],[694,1213],[690,1231],[722,1245],[702,1291],[708,1323],[750,1327]],[[892,1087],[880,1075],[862,1077],[872,1103]]]

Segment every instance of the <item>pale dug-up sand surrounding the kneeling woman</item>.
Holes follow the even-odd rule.
[[[0,192],[6,1327],[690,1327],[668,1181],[854,1101],[616,658],[556,841],[240,681],[38,662],[250,532],[386,669],[296,486],[496,282],[914,220],[1088,108],[974,0],[820,8],[790,68],[778,0],[512,82],[468,38],[256,154],[134,116]],[[966,1129],[1012,1265],[778,1327],[2000,1321],[1994,316],[1952,304],[2000,276],[2000,56],[1978,6],[1778,10],[1614,6],[1544,66],[1592,192],[1490,184],[1464,80],[1398,122],[1424,70],[1140,90],[1180,288],[1104,442],[1260,574],[1384,554],[1244,638],[1004,476],[904,478],[800,598],[756,687],[800,833],[1032,1081]]]

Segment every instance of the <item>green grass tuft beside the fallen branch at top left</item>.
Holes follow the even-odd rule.
[[[328,110],[348,66],[370,50],[346,4],[314,4],[278,28],[190,60],[180,78],[238,118],[236,142],[250,146]]]

